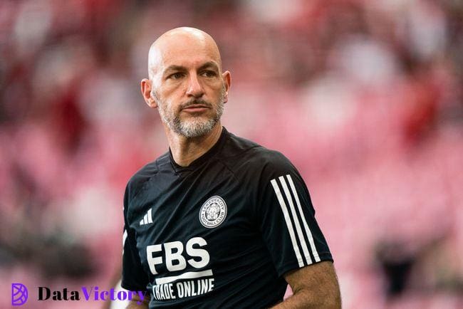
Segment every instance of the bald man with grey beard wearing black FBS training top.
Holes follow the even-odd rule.
[[[148,58],[142,95],[170,152],[125,191],[122,286],[148,292],[128,308],[340,308],[296,168],[221,125],[231,75],[212,37],[175,28]],[[293,295],[281,302],[287,283]]]

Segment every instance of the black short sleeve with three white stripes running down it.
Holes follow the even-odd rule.
[[[276,152],[259,180],[256,218],[279,276],[320,261],[333,261],[306,184],[293,164]]]

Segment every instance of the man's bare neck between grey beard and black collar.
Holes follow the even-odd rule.
[[[194,138],[178,135],[167,126],[165,126],[165,132],[175,163],[181,167],[187,167],[215,145],[222,134],[222,125],[218,122],[207,135]]]

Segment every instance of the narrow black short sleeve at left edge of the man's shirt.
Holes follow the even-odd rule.
[[[143,271],[137,251],[135,231],[128,224],[128,189],[124,194],[123,278],[121,286],[127,290],[145,290],[148,278]]]

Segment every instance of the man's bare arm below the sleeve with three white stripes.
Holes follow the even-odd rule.
[[[293,295],[274,309],[340,309],[338,278],[331,261],[323,261],[284,275]]]

